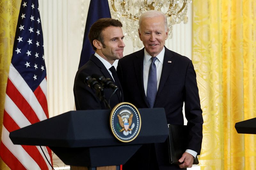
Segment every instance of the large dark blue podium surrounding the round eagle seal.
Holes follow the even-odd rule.
[[[136,139],[123,143],[112,135],[111,110],[69,111],[10,133],[13,144],[49,146],[70,166],[124,164],[142,144],[162,143],[168,136],[164,108],[138,109],[141,129]]]

